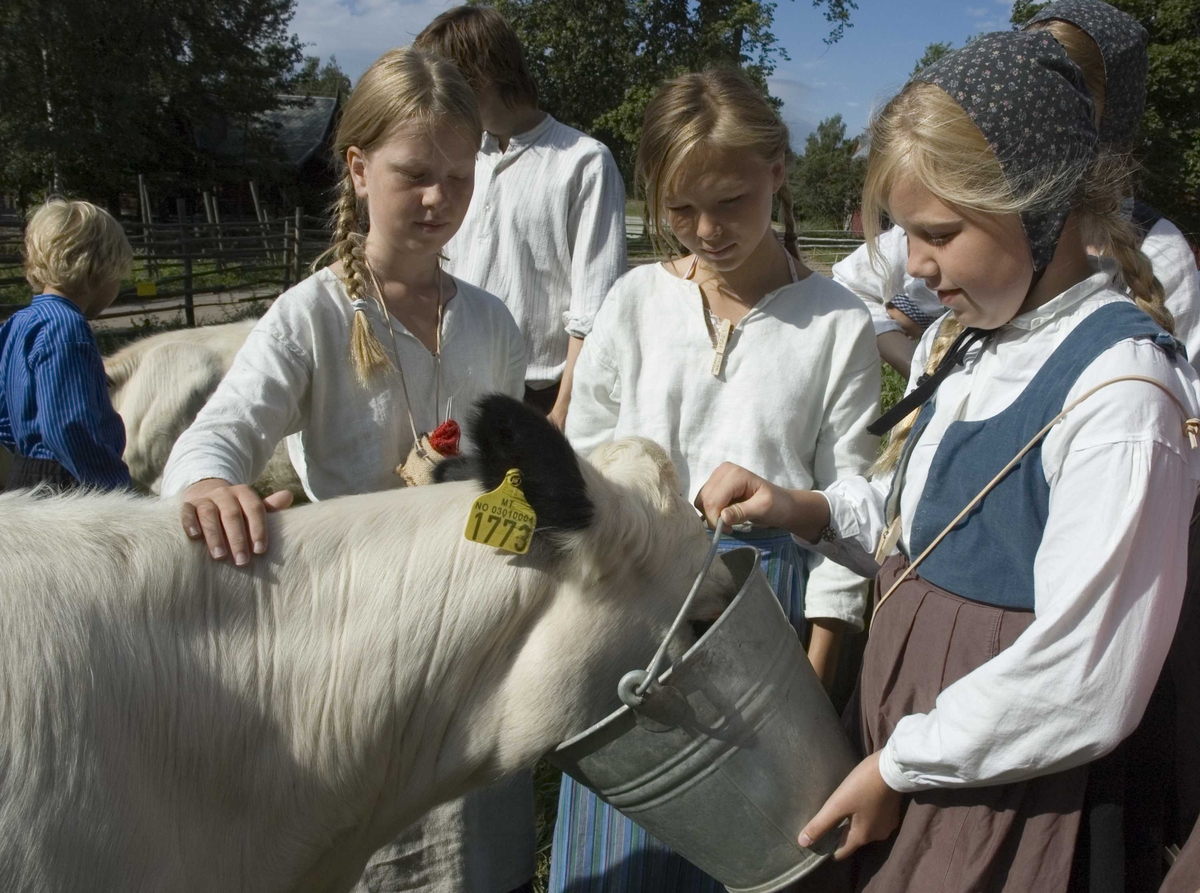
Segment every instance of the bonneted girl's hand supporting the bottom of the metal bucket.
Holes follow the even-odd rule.
[[[842,819],[850,819],[850,826],[842,831],[841,843],[833,855],[835,859],[844,859],[874,840],[887,840],[900,826],[900,798],[901,795],[888,787],[880,774],[880,754],[876,751],[854,767],[821,811],[804,826],[799,844],[812,846],[815,840],[836,828]]]

